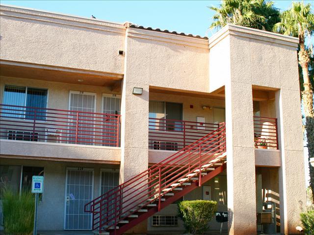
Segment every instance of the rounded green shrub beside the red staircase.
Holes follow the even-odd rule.
[[[183,201],[178,204],[178,217],[183,220],[187,232],[204,234],[216,210],[217,202],[214,201]]]

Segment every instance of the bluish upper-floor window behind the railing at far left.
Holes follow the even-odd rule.
[[[47,106],[47,90],[29,87],[4,86],[3,104],[25,107],[12,107],[4,117],[45,120],[43,109]],[[43,108],[43,109],[36,109]],[[36,110],[36,112],[35,112]]]

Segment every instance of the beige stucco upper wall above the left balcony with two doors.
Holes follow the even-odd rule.
[[[123,72],[122,24],[1,6],[1,60]]]

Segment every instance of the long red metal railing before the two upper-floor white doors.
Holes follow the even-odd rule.
[[[118,147],[120,115],[0,104],[0,138]]]

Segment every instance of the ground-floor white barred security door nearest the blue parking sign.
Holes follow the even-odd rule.
[[[93,200],[94,170],[68,167],[65,184],[65,230],[91,230],[92,215],[84,205]]]

